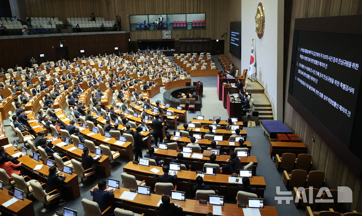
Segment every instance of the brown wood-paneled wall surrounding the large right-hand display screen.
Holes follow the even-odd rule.
[[[289,32],[286,88],[288,88],[289,85],[295,18],[354,15],[361,13],[361,0],[294,0],[291,16],[292,22]],[[288,92],[288,89],[285,90]],[[284,121],[308,146],[308,152],[313,156],[313,169],[323,170],[326,173],[327,186],[331,189],[336,189],[337,186],[348,186],[352,189],[353,203],[350,206],[346,205],[347,210],[362,212],[361,179],[349,170],[337,154],[328,147],[327,143],[321,140],[318,134],[313,131],[288,102],[285,104]],[[338,124],[338,120],[336,120],[336,124]],[[312,141],[312,138],[315,138],[315,142]]]

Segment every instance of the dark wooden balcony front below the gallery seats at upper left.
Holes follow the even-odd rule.
[[[114,47],[120,52],[128,52],[129,33],[104,34],[104,35],[76,35],[76,36],[51,36],[51,37],[29,37],[20,39],[0,40],[0,66],[13,68],[28,66],[29,59],[33,56],[38,63],[57,61],[55,48],[59,47],[59,40],[63,38],[63,47],[68,47],[69,60],[77,56],[97,55],[98,53],[113,53]],[[84,53],[80,53],[84,50]],[[44,54],[44,58],[39,58]]]

